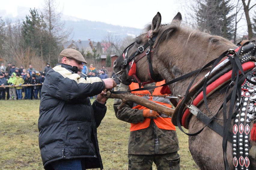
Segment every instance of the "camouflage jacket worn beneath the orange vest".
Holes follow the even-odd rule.
[[[154,86],[155,83],[151,83],[147,86]],[[117,91],[129,91],[129,86],[120,83]],[[150,91],[153,93],[153,90]],[[121,100],[115,99],[114,111],[117,119],[128,122],[137,123],[143,122],[143,110],[132,109],[133,102],[127,102],[126,105],[118,110],[117,107],[120,105]],[[179,143],[176,131],[160,129],[154,123],[150,121],[148,128],[140,129],[137,131],[131,131],[128,141],[128,154],[166,154],[172,153],[179,150]]]

